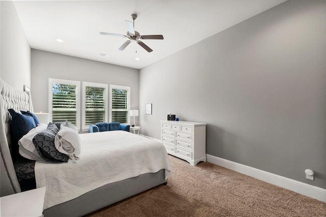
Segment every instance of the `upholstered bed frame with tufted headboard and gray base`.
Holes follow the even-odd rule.
[[[0,92],[0,196],[3,197],[21,192],[10,153],[10,115],[7,109],[33,111],[33,108],[27,92],[14,89],[2,79],[0,79]],[[49,207],[44,210],[44,216],[82,216],[166,183],[164,169],[156,173],[142,174],[103,185],[75,199]]]

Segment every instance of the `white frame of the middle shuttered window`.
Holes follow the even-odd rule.
[[[83,99],[82,99],[82,105],[83,105],[83,122],[82,122],[82,129],[83,131],[88,131],[89,130],[89,125],[86,126],[86,86],[92,86],[92,87],[102,87],[105,88],[105,117],[104,117],[104,122],[107,122],[108,118],[108,84],[102,84],[102,83],[93,83],[93,82],[86,82],[83,81]]]

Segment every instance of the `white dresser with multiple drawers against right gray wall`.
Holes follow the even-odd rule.
[[[161,120],[161,141],[169,154],[191,165],[206,162],[206,123]]]

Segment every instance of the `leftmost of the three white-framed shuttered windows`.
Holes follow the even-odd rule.
[[[73,123],[79,129],[79,81],[49,78],[49,114],[52,122]]]

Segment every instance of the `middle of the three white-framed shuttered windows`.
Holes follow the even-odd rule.
[[[83,82],[83,129],[107,122],[107,84]]]

